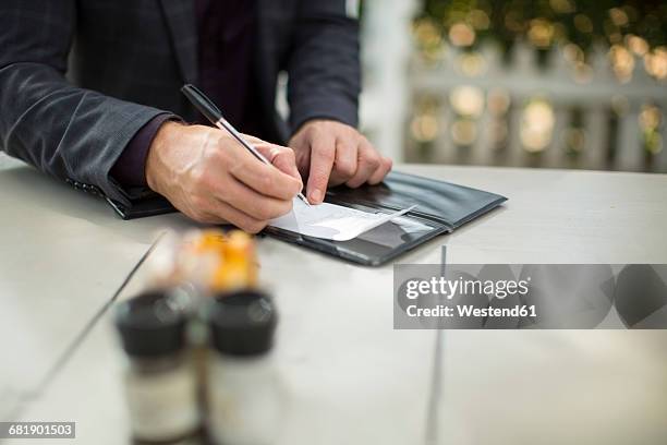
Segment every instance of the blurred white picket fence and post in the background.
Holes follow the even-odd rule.
[[[395,158],[667,171],[667,84],[641,59],[627,82],[604,48],[578,70],[562,50],[541,68],[521,44],[509,63],[489,46],[476,53],[450,47],[425,63],[410,33],[414,2],[365,5],[362,122]]]

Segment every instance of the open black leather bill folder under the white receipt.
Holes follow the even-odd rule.
[[[108,201],[124,219],[174,212],[167,200],[155,194],[135,201],[131,207]],[[267,227],[264,233],[341,260],[378,266],[438,234],[454,231],[465,222],[498,207],[507,197],[392,171],[378,185],[363,185],[359,189],[332,188],[327,192],[326,201],[373,213],[393,213],[415,204],[416,207],[350,241],[323,240],[276,227]]]

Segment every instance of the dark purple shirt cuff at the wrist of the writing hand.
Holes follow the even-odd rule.
[[[146,187],[146,156],[160,125],[168,120],[180,120],[165,112],[149,120],[128,143],[111,168],[111,177],[123,188]]]

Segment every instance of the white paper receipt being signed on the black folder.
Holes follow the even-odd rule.
[[[307,237],[349,241],[414,207],[416,205],[392,214],[374,214],[328,203],[307,206],[294,199],[292,212],[271,220],[269,226]]]

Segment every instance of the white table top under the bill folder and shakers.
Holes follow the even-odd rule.
[[[397,169],[510,199],[401,263],[438,263],[442,244],[450,263],[667,261],[667,176]],[[4,155],[0,208],[0,420],[76,421],[76,443],[126,442],[108,303],[160,228],[195,225],[120,220]],[[667,332],[393,330],[391,265],[258,245],[281,312],[277,443],[667,443]],[[140,288],[132,279],[119,299]]]

